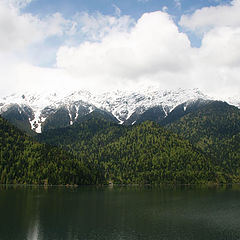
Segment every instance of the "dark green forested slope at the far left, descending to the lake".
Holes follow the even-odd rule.
[[[95,176],[70,153],[34,142],[0,117],[0,183],[92,184]]]

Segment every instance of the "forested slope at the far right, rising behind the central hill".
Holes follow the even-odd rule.
[[[167,126],[208,154],[225,181],[240,182],[240,110],[210,102]]]

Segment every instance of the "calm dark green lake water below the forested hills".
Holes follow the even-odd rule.
[[[240,186],[0,186],[1,240],[240,240]]]

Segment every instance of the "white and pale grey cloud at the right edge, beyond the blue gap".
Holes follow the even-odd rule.
[[[201,85],[218,96],[240,93],[239,12],[240,0],[233,0],[228,5],[183,15],[179,22],[186,30],[203,34],[202,44],[195,51],[193,79],[196,75]]]

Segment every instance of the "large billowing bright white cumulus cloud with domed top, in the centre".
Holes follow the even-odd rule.
[[[100,42],[61,47],[57,67],[74,76],[111,81],[140,81],[162,73],[187,71],[190,42],[163,12],[144,14],[131,31],[109,33]],[[103,78],[103,79],[101,79]],[[171,84],[171,83],[170,83]]]

